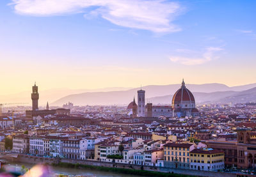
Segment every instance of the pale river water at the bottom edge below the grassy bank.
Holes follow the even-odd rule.
[[[4,165],[4,167],[8,171],[18,171],[20,172],[22,165],[24,165],[26,168],[30,169],[33,167],[34,164],[25,164],[25,163],[10,163]],[[51,171],[53,174],[65,174],[70,176],[88,176],[88,177],[105,177],[105,176],[115,176],[115,177],[138,177],[136,175],[131,174],[120,174],[120,173],[111,173],[111,172],[105,172],[105,171],[94,171],[90,169],[72,169],[72,168],[65,168],[65,167],[51,167]],[[54,175],[52,175],[54,176]]]

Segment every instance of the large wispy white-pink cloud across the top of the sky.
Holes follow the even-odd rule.
[[[173,20],[180,15],[179,3],[164,0],[11,0],[17,13],[51,16],[83,13],[86,18],[102,17],[123,27],[155,33],[180,31]]]

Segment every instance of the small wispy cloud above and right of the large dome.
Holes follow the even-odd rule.
[[[220,47],[208,47],[199,57],[184,57],[184,56],[172,56],[170,60],[175,63],[180,63],[182,65],[201,65],[208,61],[212,61],[212,59],[218,58],[218,56],[214,55],[215,52],[223,50]],[[178,52],[184,52],[186,54],[198,54],[198,52],[186,50],[186,49],[178,49]]]

